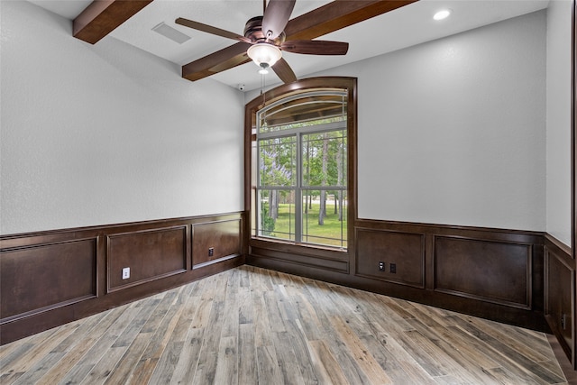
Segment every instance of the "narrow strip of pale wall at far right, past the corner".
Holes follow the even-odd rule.
[[[571,246],[571,1],[547,9],[547,233]]]

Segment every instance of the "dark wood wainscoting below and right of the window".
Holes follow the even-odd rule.
[[[549,331],[542,233],[361,219],[354,234],[320,255],[253,239],[247,263]]]

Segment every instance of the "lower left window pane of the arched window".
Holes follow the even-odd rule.
[[[259,236],[295,240],[295,190],[259,190]]]

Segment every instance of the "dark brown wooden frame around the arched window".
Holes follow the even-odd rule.
[[[293,243],[292,241],[283,241],[281,239],[260,237],[252,232],[252,223],[256,220],[256,176],[252,175],[255,167],[256,157],[256,129],[257,129],[257,112],[265,106],[277,103],[280,99],[295,96],[297,94],[307,93],[314,89],[340,90],[347,94],[347,175],[346,175],[346,195],[347,195],[347,247],[345,249],[324,246],[315,243]],[[245,106],[244,115],[244,210],[246,220],[244,221],[244,234],[247,242],[245,254],[252,253],[252,246],[258,243],[259,247],[282,247],[283,251],[293,252],[296,254],[307,253],[312,256],[331,257],[334,255],[339,260],[348,258],[353,255],[355,248],[354,243],[354,223],[357,219],[357,79],[345,77],[323,77],[307,78],[296,82],[285,84],[270,91],[261,94],[252,99]]]

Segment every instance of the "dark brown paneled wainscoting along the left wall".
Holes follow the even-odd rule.
[[[1,236],[0,344],[242,265],[243,221],[233,213]]]

